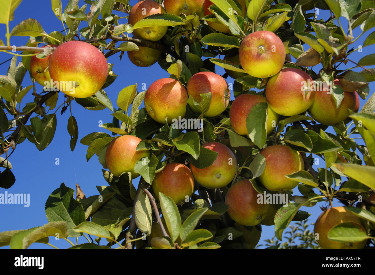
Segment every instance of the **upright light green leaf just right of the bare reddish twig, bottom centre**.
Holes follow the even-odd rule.
[[[180,213],[174,201],[162,192],[159,192],[159,200],[166,226],[171,234],[171,240],[174,242],[181,232]]]

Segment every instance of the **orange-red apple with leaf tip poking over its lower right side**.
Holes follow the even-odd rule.
[[[297,180],[289,179],[285,175],[305,168],[299,152],[287,145],[272,145],[260,153],[266,158],[266,167],[259,177],[264,187],[271,191],[285,191],[298,185]]]

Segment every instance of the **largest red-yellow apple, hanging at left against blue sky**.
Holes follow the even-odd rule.
[[[60,86],[74,83],[73,91],[62,89],[61,92],[75,98],[87,98],[98,92],[107,80],[107,60],[89,43],[68,41],[59,45],[49,57],[49,75]]]

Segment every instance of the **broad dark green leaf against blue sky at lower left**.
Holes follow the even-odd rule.
[[[45,212],[49,222],[64,221],[68,225],[69,237],[80,237],[81,234],[72,230],[72,227],[85,221],[85,212],[82,204],[74,200],[74,189],[66,187],[64,183],[49,195]]]

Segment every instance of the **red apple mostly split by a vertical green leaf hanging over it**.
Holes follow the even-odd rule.
[[[234,131],[239,135],[248,135],[246,128],[246,118],[248,117],[251,109],[254,105],[267,102],[264,96],[252,95],[249,93],[243,93],[234,99],[231,109],[229,111],[229,118],[232,123]],[[271,108],[267,108],[267,135],[273,131],[276,127],[276,123],[279,120],[279,115],[276,114]],[[275,125],[274,127],[272,125]]]

